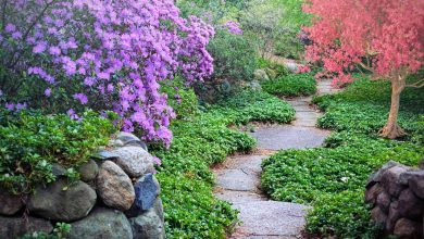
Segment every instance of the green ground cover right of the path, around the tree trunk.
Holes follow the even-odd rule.
[[[378,92],[378,93],[376,93]],[[390,85],[360,79],[345,91],[316,97],[325,114],[321,127],[336,130],[324,148],[280,151],[263,162],[262,186],[275,200],[308,203],[307,229],[320,236],[375,238],[381,232],[364,203],[371,173],[389,160],[416,166],[424,158],[422,130],[414,105],[420,90],[402,95],[400,124],[410,134],[403,141],[378,138],[390,106]]]

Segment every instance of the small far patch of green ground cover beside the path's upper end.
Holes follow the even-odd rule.
[[[262,89],[278,97],[311,96],[316,92],[316,80],[312,74],[289,74],[277,79],[264,80]]]

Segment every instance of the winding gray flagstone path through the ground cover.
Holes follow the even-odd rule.
[[[320,80],[317,93],[332,93],[329,80]],[[308,206],[270,201],[261,192],[261,162],[277,150],[320,147],[329,131],[315,127],[321,113],[310,105],[311,97],[288,99],[296,110],[290,125],[261,126],[251,135],[258,151],[228,158],[214,169],[215,196],[240,211],[240,226],[232,238],[300,238]]]

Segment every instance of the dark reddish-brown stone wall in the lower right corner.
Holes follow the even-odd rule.
[[[423,166],[420,169],[388,162],[370,177],[365,201],[373,205],[372,217],[387,235],[424,237]]]

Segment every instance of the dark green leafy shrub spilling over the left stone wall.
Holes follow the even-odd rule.
[[[52,164],[75,175],[74,167],[108,143],[116,130],[112,122],[93,112],[79,121],[65,114],[0,112],[0,184],[15,192],[53,181]]]

